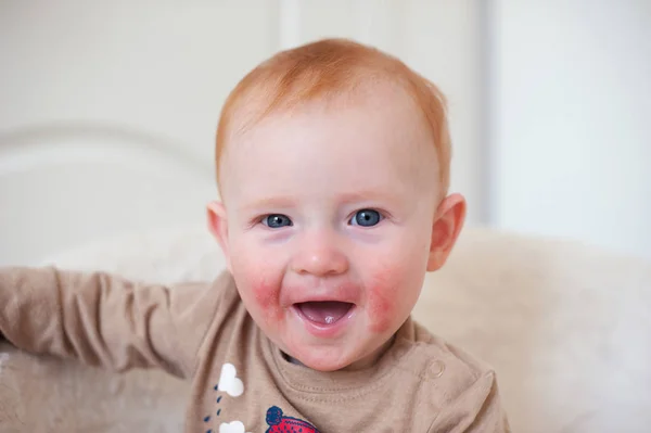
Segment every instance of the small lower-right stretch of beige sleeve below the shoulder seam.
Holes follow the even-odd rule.
[[[427,430],[429,433],[510,433],[500,402],[495,373],[488,371],[449,402]]]

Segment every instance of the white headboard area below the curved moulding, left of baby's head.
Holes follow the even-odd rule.
[[[0,133],[0,266],[144,228],[202,224],[212,161],[111,125]]]

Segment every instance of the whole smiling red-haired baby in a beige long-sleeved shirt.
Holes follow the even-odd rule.
[[[280,52],[226,101],[216,166],[216,281],[9,268],[0,332],[192,380],[186,432],[509,431],[495,373],[410,318],[465,216],[434,85],[348,40]]]

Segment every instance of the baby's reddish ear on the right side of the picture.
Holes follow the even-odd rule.
[[[451,194],[445,198],[434,215],[427,271],[438,270],[445,264],[464,221],[465,199],[463,195]]]

